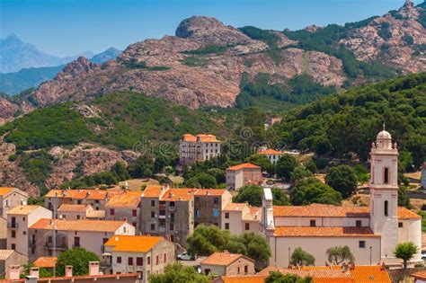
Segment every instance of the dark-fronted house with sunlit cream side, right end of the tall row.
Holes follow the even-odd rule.
[[[220,213],[231,202],[232,195],[227,190],[196,190],[194,193],[194,226],[204,224],[220,227],[222,225]]]

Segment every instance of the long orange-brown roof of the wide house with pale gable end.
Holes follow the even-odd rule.
[[[115,232],[126,221],[107,221],[107,220],[59,220],[41,218],[30,226],[31,229],[43,229],[58,231],[88,231],[88,232]]]

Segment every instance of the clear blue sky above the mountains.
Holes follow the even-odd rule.
[[[13,32],[46,53],[68,56],[173,35],[191,15],[214,16],[235,27],[297,30],[313,23],[359,21],[402,4],[404,0],[0,0],[0,38]]]

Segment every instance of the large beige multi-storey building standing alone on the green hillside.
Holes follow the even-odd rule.
[[[181,164],[191,164],[217,157],[220,155],[220,143],[220,140],[217,140],[214,135],[183,135],[179,143]]]

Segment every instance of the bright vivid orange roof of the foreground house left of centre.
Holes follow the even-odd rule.
[[[114,235],[105,246],[116,252],[149,252],[161,240],[162,237],[155,236]]]

